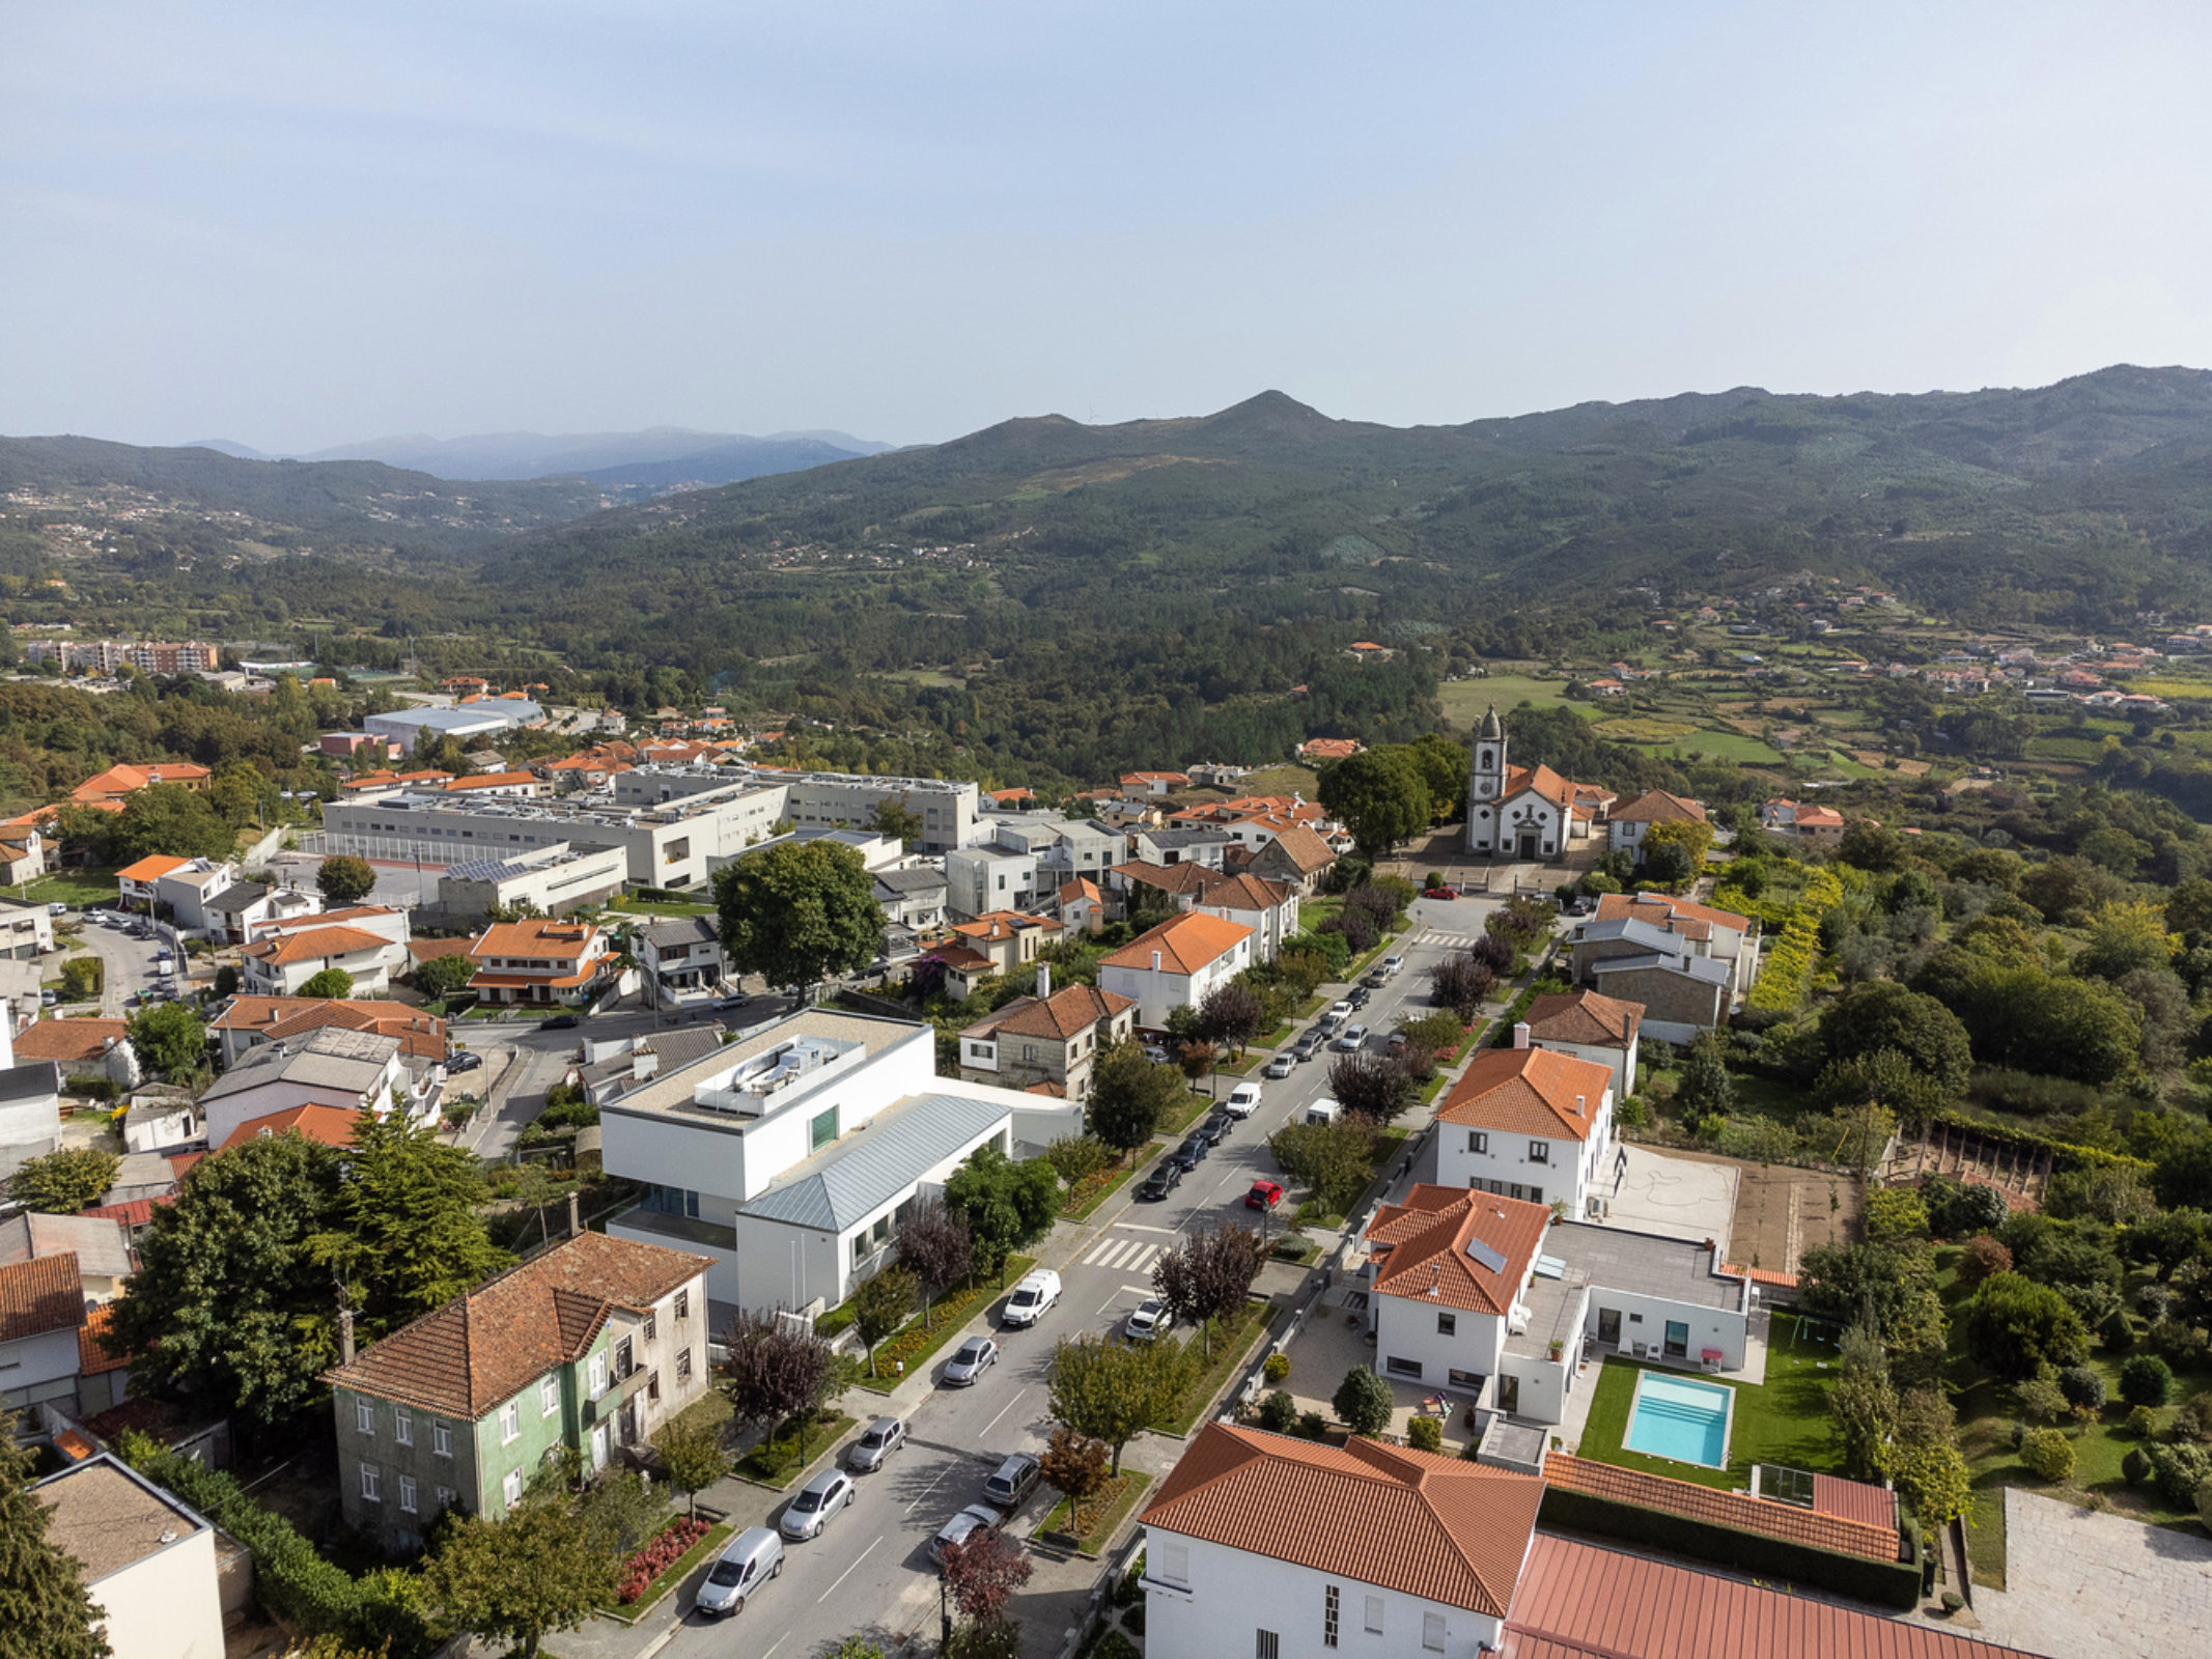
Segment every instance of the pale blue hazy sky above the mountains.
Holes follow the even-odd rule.
[[[2212,365],[2212,7],[0,7],[0,431]]]

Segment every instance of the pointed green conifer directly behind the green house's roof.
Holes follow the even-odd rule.
[[[354,1119],[332,1225],[307,1241],[358,1310],[365,1336],[396,1332],[513,1265],[484,1232],[484,1166],[405,1113]]]

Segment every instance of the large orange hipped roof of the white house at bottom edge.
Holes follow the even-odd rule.
[[[1141,1520],[1500,1617],[1540,1500],[1533,1475],[1464,1458],[1208,1422]]]

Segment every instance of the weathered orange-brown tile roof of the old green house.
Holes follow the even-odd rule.
[[[617,1307],[650,1307],[710,1265],[582,1232],[392,1332],[323,1380],[473,1422],[555,1365],[580,1360]]]

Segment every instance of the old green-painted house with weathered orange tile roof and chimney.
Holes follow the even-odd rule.
[[[349,1526],[392,1551],[602,1469],[708,1389],[706,1256],[582,1232],[325,1374]]]

